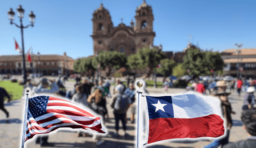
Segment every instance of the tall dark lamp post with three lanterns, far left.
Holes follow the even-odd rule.
[[[23,29],[24,28],[28,28],[28,26],[33,27],[34,22],[35,22],[35,18],[36,16],[33,14],[33,12],[31,11],[29,16],[29,20],[30,20],[30,25],[28,26],[23,26],[22,24],[22,18],[24,17],[24,12],[25,10],[22,9],[22,6],[20,5],[19,8],[17,8],[17,12],[18,12],[18,17],[20,18],[20,26],[18,26],[16,23],[13,23],[12,21],[14,20],[14,15],[15,13],[12,11],[12,8],[10,8],[10,10],[8,11],[8,18],[11,21],[10,24],[14,24],[16,27],[20,28],[21,31],[21,38],[22,38],[22,61],[23,61],[23,84],[26,84],[27,81],[27,75],[26,75],[26,68],[25,68],[25,56],[24,56],[24,39],[23,39]]]

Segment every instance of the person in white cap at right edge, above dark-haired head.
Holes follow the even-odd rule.
[[[255,97],[253,95],[254,91],[255,91],[254,86],[248,87],[247,93],[244,95],[244,105],[242,107],[242,110],[254,108],[254,105],[255,105]]]

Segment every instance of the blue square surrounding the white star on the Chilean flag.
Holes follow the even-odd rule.
[[[155,118],[174,118],[173,106],[172,106],[172,97],[171,96],[162,96],[162,97],[150,97],[146,96],[147,105],[148,105],[148,116],[149,119]],[[157,104],[158,100],[161,104],[167,104],[164,106],[164,111],[156,111],[156,107],[152,104]],[[156,112],[155,112],[156,111]]]

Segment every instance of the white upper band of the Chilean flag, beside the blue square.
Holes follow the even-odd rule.
[[[172,96],[174,118],[197,118],[220,113],[220,101],[214,97],[196,94]]]

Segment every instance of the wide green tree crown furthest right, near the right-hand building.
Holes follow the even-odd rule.
[[[222,71],[224,62],[221,54],[210,51],[200,51],[199,49],[188,49],[187,55],[184,56],[182,65],[185,69],[190,69],[190,75],[193,78],[199,75],[210,74],[211,69]]]

